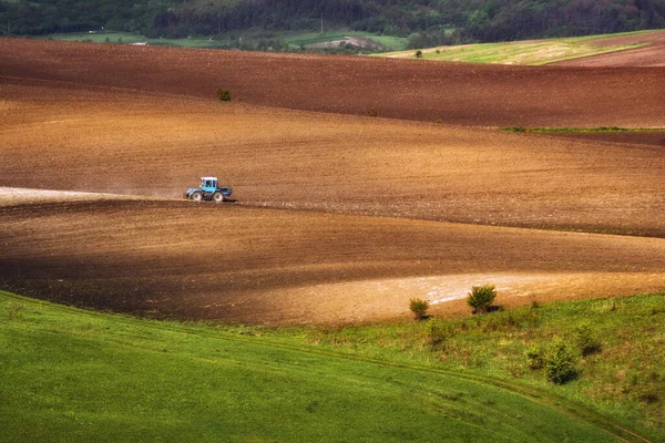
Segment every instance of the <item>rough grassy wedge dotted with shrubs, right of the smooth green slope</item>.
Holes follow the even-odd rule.
[[[665,441],[665,292],[555,302],[423,323],[318,328],[319,347],[518,381],[564,395]],[[583,354],[582,336],[598,349]],[[526,352],[545,354],[557,340],[576,352],[577,377],[555,385],[531,369]],[[592,340],[592,341],[593,341]]]

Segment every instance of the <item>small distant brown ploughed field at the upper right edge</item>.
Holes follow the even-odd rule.
[[[626,44],[647,43],[647,47],[611,52],[607,54],[586,56],[554,63],[559,66],[665,66],[665,31],[644,34],[612,37],[590,40],[585,44],[597,47],[622,47]]]

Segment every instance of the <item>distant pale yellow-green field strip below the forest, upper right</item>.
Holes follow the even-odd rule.
[[[565,39],[528,40],[516,42],[427,48],[421,50],[422,56],[420,59],[469,63],[542,65],[561,62],[564,60],[641,48],[645,44],[595,47],[585,43],[592,40],[605,39],[608,37],[630,35],[645,32],[653,31],[637,31]],[[382,54],[376,54],[376,56],[418,59],[416,56],[416,50],[386,52]]]

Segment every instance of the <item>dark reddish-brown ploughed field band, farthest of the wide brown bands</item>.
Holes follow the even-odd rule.
[[[3,39],[0,74],[474,126],[665,126],[662,68],[530,68]]]

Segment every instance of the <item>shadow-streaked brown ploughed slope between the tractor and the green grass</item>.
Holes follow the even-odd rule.
[[[186,202],[33,204],[0,217],[1,287],[158,317],[367,321],[492,281],[502,303],[665,286],[665,239]]]

